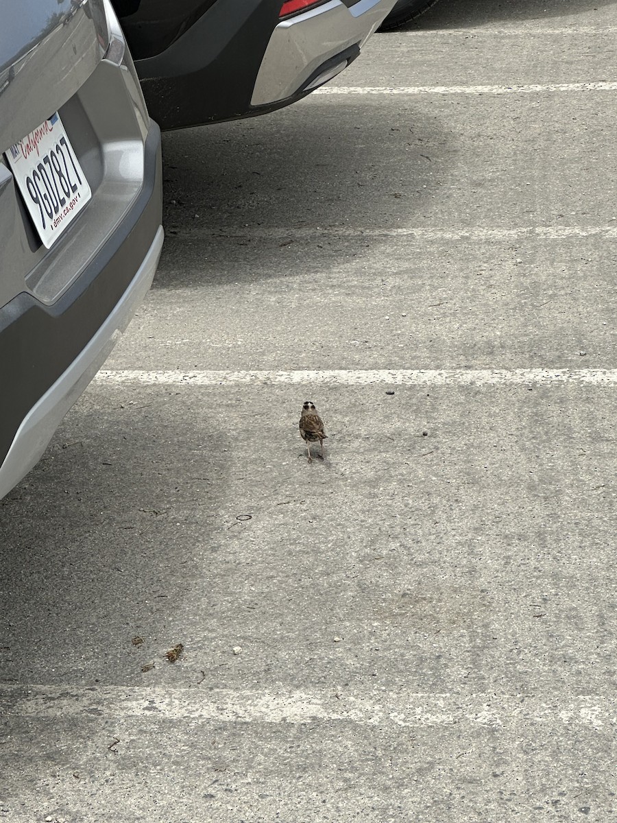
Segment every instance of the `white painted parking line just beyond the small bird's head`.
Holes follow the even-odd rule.
[[[103,370],[98,384],[264,386],[276,384],[368,386],[606,386],[617,384],[617,369],[393,369],[295,371]]]

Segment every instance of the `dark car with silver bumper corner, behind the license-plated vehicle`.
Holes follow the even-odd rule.
[[[393,4],[114,0],[151,117],[163,129],[250,117],[299,100],[358,56]]]

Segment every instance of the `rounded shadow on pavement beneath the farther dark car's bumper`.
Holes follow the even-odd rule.
[[[165,134],[166,241],[154,288],[177,286],[187,264],[207,281],[217,258],[219,282],[235,260],[236,279],[240,264],[256,258],[268,277],[290,244],[304,244],[304,258],[318,256],[322,230],[341,239],[328,246],[330,263],[346,261],[351,245],[361,256],[383,244],[378,230],[430,220],[456,167],[456,135],[429,100],[383,103],[367,118],[365,103],[320,95],[259,118]],[[363,229],[372,234],[361,237]],[[346,230],[355,237],[345,240]]]

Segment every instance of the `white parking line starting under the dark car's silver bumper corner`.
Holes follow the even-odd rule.
[[[617,91],[615,82],[534,83],[522,86],[322,86],[314,95],[511,95],[545,91]]]

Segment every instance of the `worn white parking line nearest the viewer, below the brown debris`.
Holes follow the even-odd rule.
[[[123,686],[0,686],[4,716],[35,718],[190,718],[217,723],[358,723],[401,727],[488,728],[559,723],[599,731],[617,721],[605,695],[453,695],[389,690],[282,692]]]

